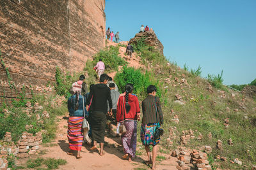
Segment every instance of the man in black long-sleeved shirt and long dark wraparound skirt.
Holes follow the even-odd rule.
[[[91,150],[97,150],[97,143],[100,143],[100,155],[104,155],[103,146],[104,146],[104,137],[105,137],[105,127],[106,127],[106,113],[108,113],[108,104],[109,104],[109,113],[112,115],[112,100],[110,96],[110,89],[106,85],[108,83],[108,75],[100,75],[100,83],[93,85],[92,90],[90,91],[89,99],[86,103],[86,110],[90,106],[90,127],[92,128],[92,140],[93,147]]]

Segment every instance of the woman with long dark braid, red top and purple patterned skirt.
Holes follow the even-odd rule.
[[[133,85],[125,85],[125,96],[120,96],[116,106],[116,120],[125,125],[127,132],[122,134],[122,144],[124,147],[123,159],[129,157],[129,162],[136,153],[137,142],[137,120],[140,121],[140,105],[137,96],[132,94]]]

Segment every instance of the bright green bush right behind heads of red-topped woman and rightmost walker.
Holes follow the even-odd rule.
[[[123,67],[122,71],[116,73],[115,82],[118,85],[118,89],[124,92],[125,85],[127,83],[132,83],[134,85],[133,93],[138,96],[139,99],[147,96],[148,85],[156,85],[158,82],[150,80],[149,73],[141,73],[140,69],[134,69],[134,67]],[[157,88],[157,94],[161,96],[161,90]]]

